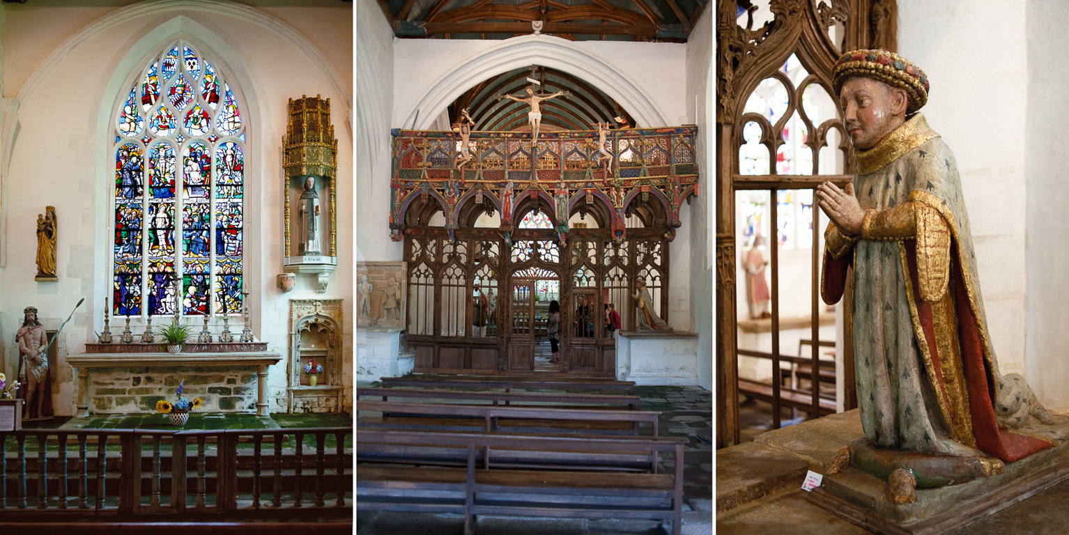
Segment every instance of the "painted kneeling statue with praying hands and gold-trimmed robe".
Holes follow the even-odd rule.
[[[958,164],[918,112],[929,81],[904,58],[856,50],[833,83],[856,175],[817,190],[821,296],[839,301],[853,266],[857,403],[869,442],[1013,461],[1052,445],[1021,431],[1051,416],[1024,379],[998,373]]]

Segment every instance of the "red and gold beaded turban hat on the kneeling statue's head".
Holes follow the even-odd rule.
[[[839,96],[842,83],[855,76],[865,76],[874,80],[901,88],[910,95],[908,113],[913,113],[928,103],[928,76],[910,60],[886,50],[854,50],[842,54],[835,62],[832,72],[832,83],[835,96]]]

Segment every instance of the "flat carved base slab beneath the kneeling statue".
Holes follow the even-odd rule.
[[[876,533],[959,532],[1069,479],[1069,441],[1062,432],[1069,428],[1069,415],[1055,415],[1053,425],[1045,427],[1050,429],[1041,435],[1053,447],[1005,465],[980,457],[893,452],[858,439],[850,444],[851,467],[825,475],[808,500]]]

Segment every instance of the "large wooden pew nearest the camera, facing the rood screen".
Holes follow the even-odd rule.
[[[683,438],[546,437],[540,435],[414,432],[361,429],[369,446],[448,446],[466,453],[464,468],[415,468],[361,463],[356,471],[358,510],[456,513],[471,535],[476,515],[646,518],[671,524],[680,535],[683,501]],[[673,452],[671,474],[513,470],[497,456],[526,450],[561,452]],[[484,452],[482,457],[477,452]]]

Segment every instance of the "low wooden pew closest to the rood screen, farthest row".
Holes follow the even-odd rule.
[[[410,377],[383,377],[379,379],[383,388],[447,388],[447,389],[503,389],[511,392],[524,390],[559,390],[586,391],[606,390],[635,394],[635,381],[597,380],[578,377],[541,378],[541,377],[506,377],[506,376],[444,376],[421,375]]]

